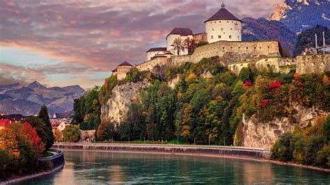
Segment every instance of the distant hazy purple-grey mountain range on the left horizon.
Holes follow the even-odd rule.
[[[34,115],[43,104],[47,105],[50,114],[70,112],[73,100],[84,93],[85,90],[80,86],[47,88],[38,81],[28,85],[0,85],[0,113]]]

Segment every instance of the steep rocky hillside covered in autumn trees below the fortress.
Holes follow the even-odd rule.
[[[131,73],[133,68],[123,81],[106,80],[95,100],[101,104],[98,140],[180,138],[203,145],[271,147],[281,134],[330,111],[326,74],[300,77],[251,67],[237,77],[219,57],[161,70]],[[89,122],[79,112],[81,105],[75,113]]]

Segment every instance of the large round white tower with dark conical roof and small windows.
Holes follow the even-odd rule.
[[[207,42],[242,41],[242,21],[230,13],[224,3],[221,9],[205,22]]]

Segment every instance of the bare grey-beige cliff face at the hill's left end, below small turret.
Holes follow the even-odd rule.
[[[132,100],[139,100],[141,90],[148,86],[146,80],[115,86],[110,98],[101,106],[101,122],[113,122],[117,125],[123,122]]]

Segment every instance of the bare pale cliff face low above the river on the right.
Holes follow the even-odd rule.
[[[254,116],[249,119],[242,118],[244,124],[242,145],[244,147],[271,148],[276,140],[285,132],[293,131],[294,127],[306,127],[314,118],[324,114],[316,108],[304,108],[295,106],[297,114],[294,115],[295,122],[289,118],[281,118],[272,122],[258,122]],[[244,116],[243,116],[244,117]]]

